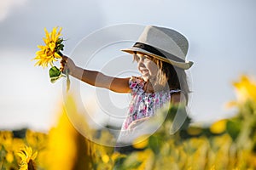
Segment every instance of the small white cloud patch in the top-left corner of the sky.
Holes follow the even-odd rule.
[[[0,21],[6,19],[11,9],[26,3],[27,0],[2,0],[0,1]]]

